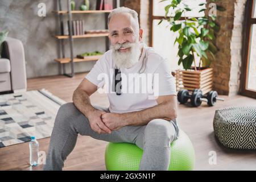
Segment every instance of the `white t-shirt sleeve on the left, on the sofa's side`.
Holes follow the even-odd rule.
[[[104,77],[101,74],[104,74],[104,61],[105,55],[103,55],[97,62],[94,64],[90,72],[85,76],[87,80],[92,82],[94,85],[102,88],[104,86]]]

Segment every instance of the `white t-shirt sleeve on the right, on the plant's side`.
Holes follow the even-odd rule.
[[[154,95],[156,96],[167,96],[177,95],[175,78],[171,75],[171,68],[168,61],[164,59],[156,68],[153,80]],[[155,77],[156,76],[156,77]],[[158,93],[156,93],[158,92]]]

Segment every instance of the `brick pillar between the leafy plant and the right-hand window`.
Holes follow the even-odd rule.
[[[217,11],[221,26],[216,45],[220,51],[211,67],[214,69],[214,90],[219,94],[236,95],[240,89],[243,19],[246,0],[219,1],[226,11]]]

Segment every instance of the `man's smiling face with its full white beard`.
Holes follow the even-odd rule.
[[[142,32],[138,23],[129,13],[115,14],[110,19],[110,48],[118,68],[130,68],[139,61]]]

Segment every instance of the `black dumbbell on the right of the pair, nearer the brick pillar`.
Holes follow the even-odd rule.
[[[210,91],[207,96],[204,97],[203,92],[201,90],[197,90],[197,92],[191,96],[191,104],[195,107],[200,106],[203,101],[207,102],[208,106],[214,106],[217,100],[224,101],[223,98],[218,97],[218,93],[216,91]]]

